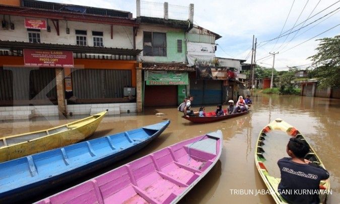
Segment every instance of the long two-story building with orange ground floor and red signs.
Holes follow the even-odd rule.
[[[12,106],[3,116],[137,110],[143,47],[130,12],[9,0],[0,14],[0,106]]]

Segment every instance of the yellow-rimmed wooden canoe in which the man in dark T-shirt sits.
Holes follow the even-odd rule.
[[[285,141],[286,143],[280,145],[283,147],[282,151],[284,151],[283,154],[285,155],[287,154],[285,150],[286,150],[286,145],[289,141],[289,137],[295,137],[301,140],[305,140],[305,138],[303,137],[303,135],[300,133],[299,130],[297,130],[295,127],[293,127],[292,125],[288,124],[287,122],[283,121],[280,118],[277,118],[276,120],[270,122],[267,126],[265,126],[261,130],[261,132],[258,135],[256,148],[255,148],[255,164],[256,164],[257,170],[262,180],[264,181],[265,185],[267,186],[268,190],[272,192],[270,194],[271,196],[273,196],[275,202],[276,203],[287,203],[287,201],[278,192],[278,186],[281,180],[280,175],[274,176],[273,172],[268,171],[269,166],[266,166],[266,162],[269,158],[265,157],[268,155],[268,153],[265,152],[265,144],[266,142],[268,142],[268,140],[270,140],[269,139],[270,137],[281,136],[276,130],[280,130],[282,132],[287,133],[287,134],[284,133],[284,135],[282,135],[282,136],[286,136],[286,135],[288,136],[287,140]],[[272,140],[279,140],[279,139],[273,138]],[[275,151],[277,152],[278,149],[275,148]],[[279,159],[281,158],[280,157],[275,158],[273,159],[273,161],[277,162]],[[321,166],[322,168],[325,168],[320,158],[317,156],[316,152],[311,146],[310,146],[310,152],[306,155],[305,159]],[[278,169],[278,166],[276,165],[275,168]],[[329,191],[330,189],[329,179],[322,180],[320,182],[320,189],[326,190],[327,192]],[[326,193],[320,195],[319,196],[320,202],[324,203],[326,196],[327,196]]]

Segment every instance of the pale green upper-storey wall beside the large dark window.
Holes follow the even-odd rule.
[[[177,40],[182,40],[182,52],[177,52]],[[185,33],[182,32],[167,32],[167,56],[155,56],[157,62],[184,62],[185,61]]]

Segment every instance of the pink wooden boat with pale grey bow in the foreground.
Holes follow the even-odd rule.
[[[169,146],[37,203],[175,203],[219,160],[221,130]]]

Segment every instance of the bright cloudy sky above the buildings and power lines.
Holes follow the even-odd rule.
[[[133,14],[133,17],[136,16],[135,0],[47,1],[129,11]],[[148,2],[164,3],[163,1],[153,0]],[[259,47],[256,52],[257,63],[267,63],[260,65],[271,67],[273,57],[261,58],[269,55],[270,51],[279,51],[275,58],[275,67],[278,71],[285,70],[287,66],[310,64],[311,61],[307,57],[316,53],[315,48],[318,41],[315,41],[315,39],[334,37],[340,34],[340,25],[338,25],[340,24],[340,2],[338,0],[168,0],[167,2],[170,5],[178,6],[194,4],[194,24],[222,36],[216,41],[219,44],[216,52],[217,56],[248,59],[247,62],[250,62],[251,54],[249,52],[251,50],[252,36],[255,35]],[[334,5],[331,6],[332,4]],[[327,7],[329,8],[326,9]],[[324,9],[326,10],[319,13]],[[290,15],[288,16],[289,12]],[[330,13],[328,16],[300,29],[302,26],[306,26],[328,13]],[[302,23],[308,17],[310,19]],[[286,19],[287,22],[284,26]],[[299,26],[292,29],[294,25]],[[334,26],[337,27],[321,34]],[[286,33],[289,33],[298,29],[300,29],[298,32],[281,37],[278,41],[272,40],[266,44],[264,42],[260,43],[279,36],[281,31],[282,33],[286,31]],[[309,40],[316,35],[319,36]],[[309,41],[304,42],[306,40]],[[300,43],[302,44],[298,45]],[[294,46],[296,47],[290,49]],[[300,66],[302,69],[304,67],[306,66]]]

